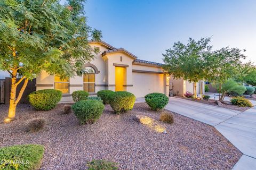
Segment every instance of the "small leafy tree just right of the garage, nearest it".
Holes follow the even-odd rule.
[[[189,38],[188,44],[174,43],[173,47],[163,54],[164,70],[174,79],[183,78],[194,83],[194,98],[197,98],[196,82],[205,80],[207,74],[207,56],[211,55],[210,38],[198,41]]]

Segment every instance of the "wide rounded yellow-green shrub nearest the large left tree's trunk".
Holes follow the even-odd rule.
[[[60,90],[45,89],[31,92],[28,95],[29,103],[37,110],[49,111],[57,106],[62,96]]]

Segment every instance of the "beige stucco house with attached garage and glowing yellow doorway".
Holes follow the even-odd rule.
[[[96,95],[99,90],[129,91],[136,97],[144,97],[151,92],[169,95],[169,77],[162,64],[138,60],[123,48],[115,48],[104,41],[90,41],[92,47],[99,47],[100,53],[84,69],[90,70],[83,77],[60,80],[42,72],[36,78],[36,89],[61,90],[62,102],[72,101],[71,94],[84,90]]]

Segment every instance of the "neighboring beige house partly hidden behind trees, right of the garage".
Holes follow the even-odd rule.
[[[203,86],[202,86],[203,84]],[[204,81],[199,81],[196,83],[196,92],[197,94],[201,93],[202,86],[202,94],[204,94]],[[170,77],[170,91],[173,92],[173,95],[183,96],[186,91],[194,93],[194,83],[189,83],[183,79],[174,79]]]

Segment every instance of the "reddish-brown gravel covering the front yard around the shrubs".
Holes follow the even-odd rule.
[[[150,111],[145,103],[135,104],[132,111],[121,115],[113,114],[106,105],[93,125],[79,125],[73,113],[63,115],[63,106],[35,111],[22,104],[17,120],[3,124],[8,106],[0,105],[0,147],[44,145],[41,169],[86,169],[92,159],[116,162],[120,169],[231,169],[242,156],[212,126],[175,113],[172,125],[161,123],[157,121],[160,113]],[[167,134],[135,122],[136,114],[154,118]],[[25,132],[33,118],[45,118],[45,128]]]

